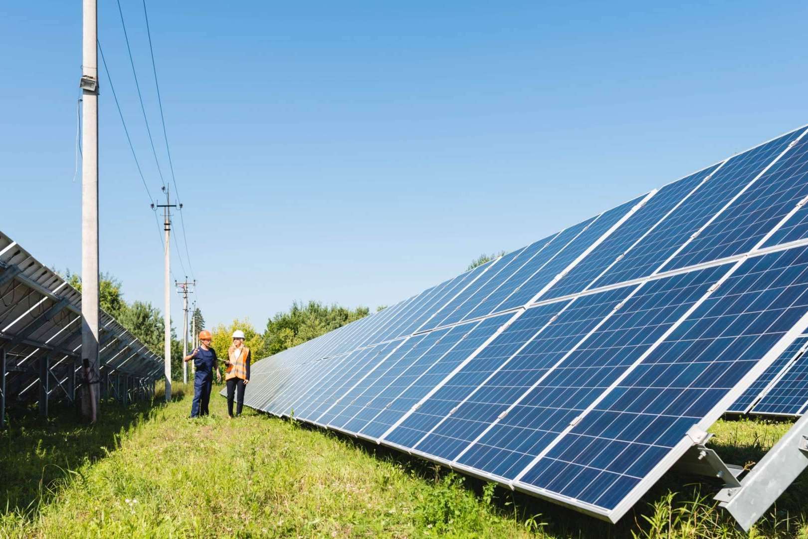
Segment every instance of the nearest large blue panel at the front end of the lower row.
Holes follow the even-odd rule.
[[[746,259],[522,482],[617,507],[806,314],[806,270],[806,247]]]

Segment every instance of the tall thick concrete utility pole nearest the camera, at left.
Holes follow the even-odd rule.
[[[99,410],[99,75],[98,4],[82,5],[82,415]]]

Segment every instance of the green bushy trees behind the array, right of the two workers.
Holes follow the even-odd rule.
[[[309,301],[305,305],[295,301],[287,312],[278,313],[267,321],[263,356],[305,343],[368,314],[368,307],[350,310],[339,305],[323,305],[319,301]]]

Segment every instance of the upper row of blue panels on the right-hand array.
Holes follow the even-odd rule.
[[[307,349],[315,355],[351,352],[535,301],[736,256],[795,211],[789,225],[763,246],[806,238],[806,210],[796,209],[808,196],[808,138],[802,135],[799,129],[779,137],[429,288],[377,315],[389,324],[355,322],[365,327],[344,329]],[[340,339],[348,335],[352,338]]]

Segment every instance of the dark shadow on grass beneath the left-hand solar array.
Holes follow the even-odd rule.
[[[171,400],[183,398],[179,388]],[[47,419],[33,409],[11,411],[8,427],[0,431],[0,514],[36,511],[80,477],[75,470],[118,448],[124,432],[153,418],[163,402],[162,392],[129,406],[107,399],[94,425],[83,423],[73,405],[53,406]]]

